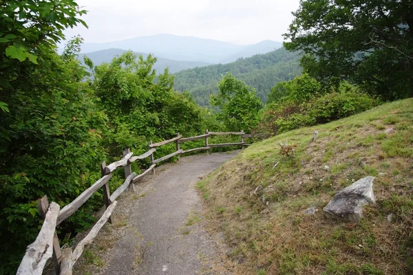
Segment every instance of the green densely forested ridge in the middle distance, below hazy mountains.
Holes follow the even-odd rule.
[[[177,91],[190,91],[198,104],[209,106],[209,96],[218,93],[218,82],[227,72],[255,88],[261,100],[266,102],[271,87],[293,79],[301,72],[299,54],[280,48],[225,65],[187,69],[175,74],[174,88]]]

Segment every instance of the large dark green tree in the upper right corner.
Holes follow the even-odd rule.
[[[413,96],[413,3],[305,0],[284,43],[303,50],[305,72],[321,83],[350,80],[384,100]]]

